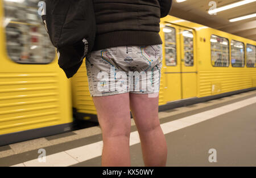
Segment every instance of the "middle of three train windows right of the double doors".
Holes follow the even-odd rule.
[[[231,43],[231,64],[232,67],[245,66],[245,44],[232,40]]]

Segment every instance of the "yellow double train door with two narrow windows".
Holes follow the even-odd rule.
[[[196,96],[195,32],[168,24],[162,30],[164,99],[166,102]]]

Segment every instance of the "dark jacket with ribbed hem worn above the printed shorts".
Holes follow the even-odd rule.
[[[172,0],[93,0],[97,25],[93,50],[162,44],[159,22],[171,5]]]

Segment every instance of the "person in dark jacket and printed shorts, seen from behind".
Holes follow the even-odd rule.
[[[90,95],[102,130],[102,166],[130,166],[130,111],[145,166],[166,166],[158,117],[160,18],[171,0],[94,0],[97,32],[86,56]]]

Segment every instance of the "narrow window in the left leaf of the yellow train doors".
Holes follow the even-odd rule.
[[[166,65],[176,66],[176,29],[173,27],[164,27],[163,32],[166,51]]]

